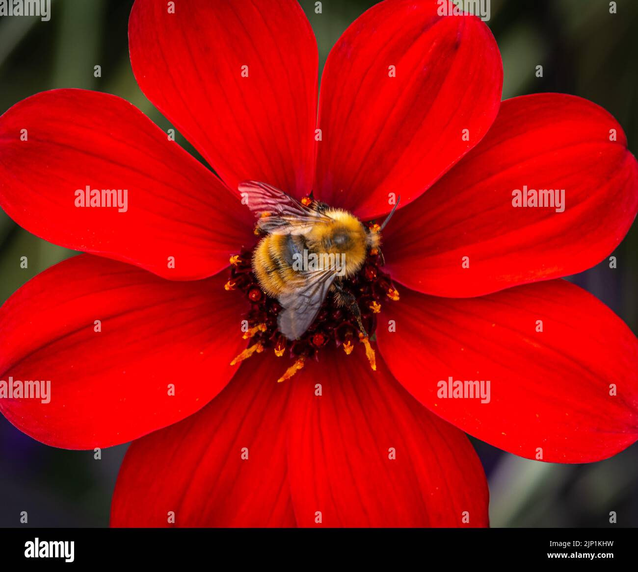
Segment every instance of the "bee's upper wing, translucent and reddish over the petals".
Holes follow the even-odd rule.
[[[270,234],[303,234],[315,224],[331,222],[330,217],[267,183],[242,181],[239,192],[259,219],[260,229]]]

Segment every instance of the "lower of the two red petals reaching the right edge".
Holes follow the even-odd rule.
[[[553,280],[472,299],[406,290],[386,308],[396,331],[383,320],[377,336],[390,370],[459,429],[550,462],[600,461],[638,439],[638,341],[579,287]],[[489,403],[438,397],[450,376],[489,380]]]

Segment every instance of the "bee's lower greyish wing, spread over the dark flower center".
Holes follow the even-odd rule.
[[[336,276],[334,269],[306,272],[302,282],[293,283],[279,295],[283,311],[277,325],[288,340],[297,340],[310,327]]]

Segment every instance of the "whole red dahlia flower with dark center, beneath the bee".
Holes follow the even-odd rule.
[[[0,118],[4,210],[89,253],[4,304],[1,378],[50,379],[52,395],[0,408],[55,447],[133,441],[113,525],[486,526],[463,432],[551,462],[637,440],[637,340],[557,280],[602,261],[635,218],[625,135],[578,97],[501,103],[491,32],[437,7],[386,0],[358,18],[330,52],[317,118],[316,41],[295,1],[171,13],[137,0],[138,83],[216,175],[119,97],[54,90]],[[244,264],[256,237],[242,180],[365,222],[401,195],[385,266],[371,255],[351,285],[376,371],[347,312],[299,343],[276,338]],[[78,208],[87,185],[128,189],[128,210]],[[564,211],[514,208],[524,185],[565,189]],[[450,378],[490,380],[489,403],[442,396]]]

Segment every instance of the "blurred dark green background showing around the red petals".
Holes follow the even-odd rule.
[[[211,0],[211,2],[214,0]],[[276,6],[276,0],[272,0]],[[317,36],[320,66],[341,32],[375,2],[301,0]],[[137,87],[128,59],[127,23],[133,0],[52,0],[49,22],[0,18],[0,113],[36,92],[80,87],[131,101],[162,129],[171,125]],[[535,92],[586,97],[623,125],[638,151],[638,1],[492,0],[487,24],[503,57],[503,99]],[[101,78],[93,66],[101,66]],[[544,74],[537,78],[535,68]],[[178,136],[179,143],[197,152]],[[570,278],[638,329],[638,225],[606,262]],[[0,301],[56,262],[73,255],[20,229],[0,211]],[[27,256],[29,268],[20,269]],[[563,466],[520,459],[473,440],[491,490],[492,526],[638,526],[638,447],[613,459]],[[126,445],[93,452],[46,447],[0,417],[0,526],[107,526],[110,497]]]

